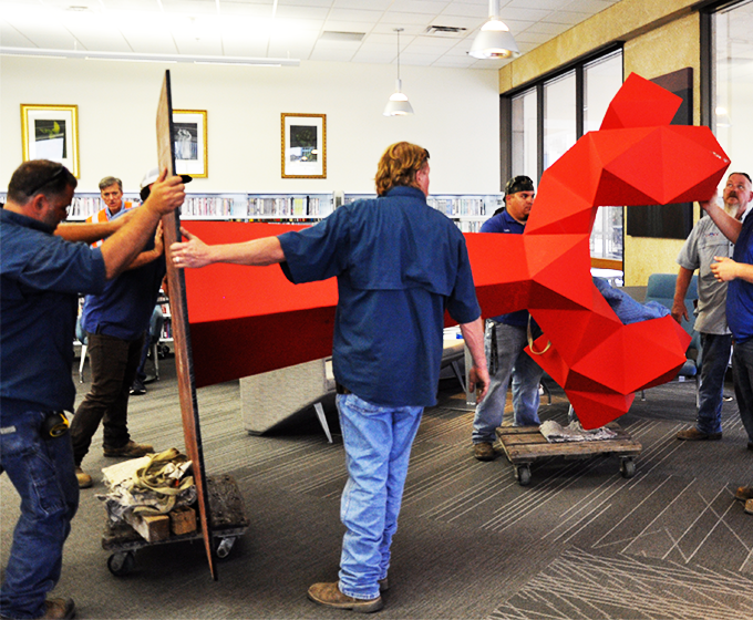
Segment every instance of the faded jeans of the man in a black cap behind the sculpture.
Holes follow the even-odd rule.
[[[513,410],[516,426],[539,425],[538,386],[544,371],[524,351],[528,344],[526,328],[489,321],[484,334],[486,360],[492,366],[492,338],[496,338],[496,372],[489,381],[486,397],[476,406],[473,418],[473,443],[494,443],[495,430],[502,424],[507,401],[507,384],[513,375]]]

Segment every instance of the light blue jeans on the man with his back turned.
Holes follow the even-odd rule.
[[[411,446],[423,407],[390,407],[355,394],[337,397],[348,483],[340,519],[345,526],[340,557],[340,591],[358,599],[379,598],[390,567]]]

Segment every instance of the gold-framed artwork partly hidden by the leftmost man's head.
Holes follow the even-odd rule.
[[[21,104],[23,161],[50,159],[79,178],[79,106]]]

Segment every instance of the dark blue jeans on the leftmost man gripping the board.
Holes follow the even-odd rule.
[[[0,614],[44,616],[44,600],[60,579],[63,544],[79,507],[70,434],[43,438],[45,414],[2,415],[0,465],[21,496],[21,516],[0,588]]]

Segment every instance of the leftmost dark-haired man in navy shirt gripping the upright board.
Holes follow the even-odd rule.
[[[45,600],[60,578],[63,544],[79,506],[71,438],[71,376],[79,292],[100,292],[183,204],[179,177],[101,248],[53,235],[68,216],[76,179],[35,159],[11,176],[0,210],[0,469],[21,496],[21,516],[0,588],[3,618],[73,618],[71,599]],[[89,228],[83,225],[76,238]]]

